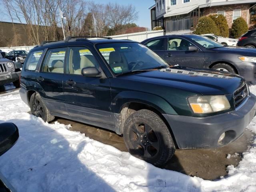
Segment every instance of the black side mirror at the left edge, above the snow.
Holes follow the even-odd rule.
[[[0,124],[0,156],[12,148],[18,138],[19,130],[15,124]]]

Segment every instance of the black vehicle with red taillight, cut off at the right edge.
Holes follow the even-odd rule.
[[[249,30],[247,33],[243,34],[236,44],[240,47],[256,48],[256,29]]]

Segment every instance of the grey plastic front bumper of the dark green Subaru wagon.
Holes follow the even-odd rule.
[[[240,136],[256,112],[256,96],[251,94],[239,110],[209,117],[163,114],[169,123],[179,148],[215,148],[228,144]],[[218,144],[225,132],[224,144]]]

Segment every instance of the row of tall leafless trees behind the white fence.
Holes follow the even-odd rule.
[[[18,45],[14,21],[22,24],[29,44],[62,38],[60,13],[66,14],[65,34],[70,36],[106,36],[129,28],[138,12],[132,5],[96,4],[85,0],[3,0],[13,23],[13,43]]]

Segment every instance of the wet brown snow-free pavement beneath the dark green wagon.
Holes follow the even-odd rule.
[[[58,118],[56,121],[66,125],[71,124],[72,128],[70,130],[79,131],[89,138],[127,152],[123,138],[114,132],[64,118]],[[177,149],[172,159],[161,168],[208,180],[218,179],[220,176],[227,174],[226,167],[228,165],[238,165],[242,153],[246,151],[253,137],[252,132],[246,130],[242,137],[222,148]],[[231,155],[230,158],[227,158],[229,157],[228,154]]]

